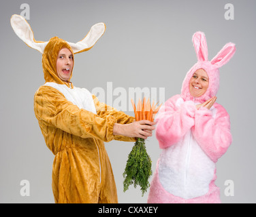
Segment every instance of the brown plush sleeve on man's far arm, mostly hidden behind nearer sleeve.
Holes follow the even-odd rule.
[[[133,121],[135,121],[134,117],[126,115],[123,111],[118,111],[117,109],[114,109],[112,106],[108,106],[103,102],[99,102],[98,98],[95,95],[92,95],[92,96],[93,96],[93,101],[97,111],[97,115],[99,115],[99,117],[106,118],[110,115],[116,119],[116,123],[121,123],[121,124],[132,123]],[[114,135],[114,140],[134,142],[135,138]]]

